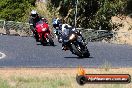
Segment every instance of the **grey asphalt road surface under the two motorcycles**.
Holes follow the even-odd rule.
[[[90,58],[80,59],[61,44],[42,46],[32,37],[0,36],[0,67],[132,67],[132,46],[89,42]]]

